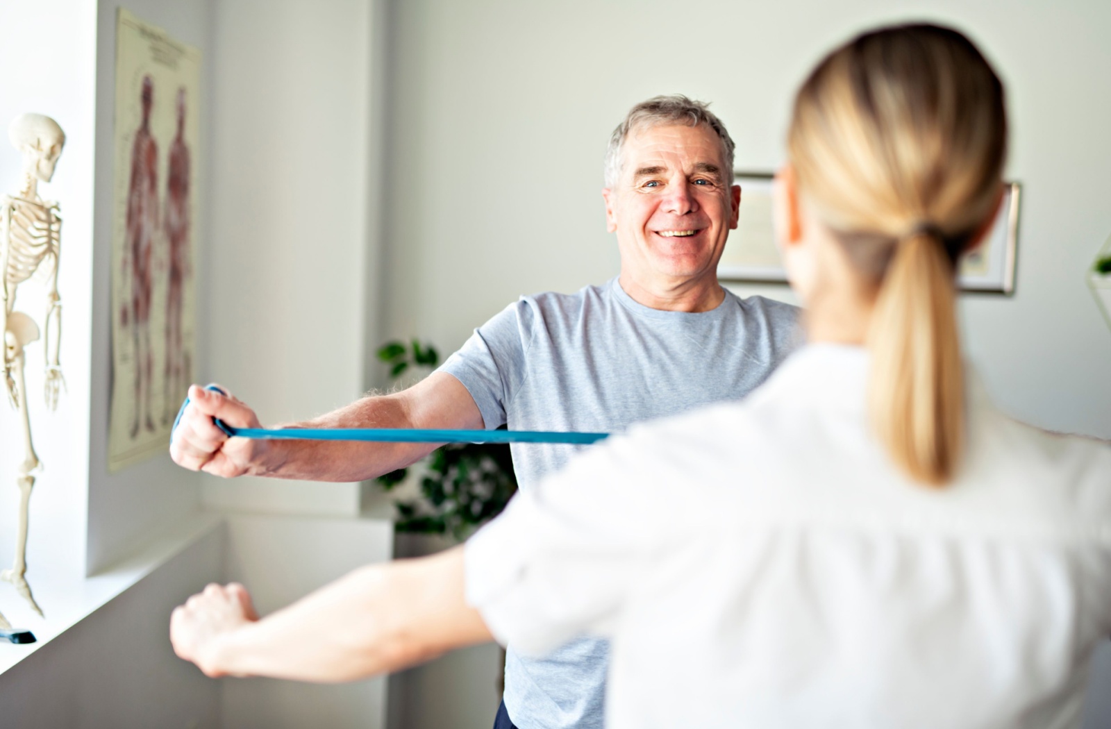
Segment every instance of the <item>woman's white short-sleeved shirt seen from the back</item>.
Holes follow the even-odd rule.
[[[594,447],[468,542],[468,601],[534,653],[609,637],[609,729],[1079,726],[1111,448],[971,387],[930,489],[871,437],[867,377],[807,347],[743,402]]]

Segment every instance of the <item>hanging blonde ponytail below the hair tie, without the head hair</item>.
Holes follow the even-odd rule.
[[[952,479],[964,442],[953,270],[941,240],[895,244],[868,332],[869,410],[891,459],[917,481]]]

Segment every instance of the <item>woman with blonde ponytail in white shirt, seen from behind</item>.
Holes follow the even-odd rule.
[[[178,653],[327,681],[594,633],[613,729],[1078,726],[1111,633],[1111,449],[995,411],[953,311],[1005,141],[960,33],[837,49],[778,186],[810,344],[767,385],[594,448],[462,548],[261,620],[212,586],[176,611]]]

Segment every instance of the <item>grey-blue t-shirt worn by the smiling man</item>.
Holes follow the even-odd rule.
[[[729,291],[711,311],[660,311],[634,301],[613,279],[572,294],[522,297],[477,329],[440,370],[470,391],[488,429],[614,432],[744,397],[801,343],[798,313]],[[514,443],[518,485],[529,489],[582,448],[589,446]],[[608,652],[595,638],[543,659],[510,646],[504,699],[513,723],[600,729]]]

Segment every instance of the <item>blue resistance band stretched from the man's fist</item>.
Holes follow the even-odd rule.
[[[227,395],[210,385],[206,390]],[[173,421],[173,431],[181,422],[189,398],[181,403]],[[609,433],[565,432],[556,430],[421,430],[416,428],[233,428],[219,418],[213,418],[217,428],[230,437],[270,440],[361,440],[377,443],[597,443]]]

